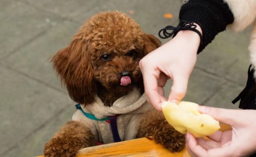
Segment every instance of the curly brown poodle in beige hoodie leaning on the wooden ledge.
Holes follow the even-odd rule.
[[[81,148],[153,136],[171,151],[184,136],[146,102],[139,61],[161,45],[122,12],[91,17],[52,62],[70,97],[72,121],[45,145],[45,156],[75,156]],[[81,104],[81,106],[80,106]]]

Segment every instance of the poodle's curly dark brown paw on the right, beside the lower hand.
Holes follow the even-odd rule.
[[[167,122],[157,128],[153,139],[172,152],[181,151],[185,147],[185,135],[177,132]]]

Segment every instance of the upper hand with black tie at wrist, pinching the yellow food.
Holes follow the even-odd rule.
[[[198,30],[202,33],[198,25]],[[140,61],[147,101],[161,111],[166,101],[163,87],[173,80],[168,100],[179,103],[185,96],[190,73],[196,60],[200,37],[193,31],[180,31],[172,40],[155,49]]]

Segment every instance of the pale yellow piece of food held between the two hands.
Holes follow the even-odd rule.
[[[165,101],[162,105],[164,117],[178,132],[189,132],[196,138],[214,134],[219,128],[219,121],[209,115],[198,112],[199,105],[181,101],[179,104]]]

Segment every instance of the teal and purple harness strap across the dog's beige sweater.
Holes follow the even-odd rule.
[[[84,112],[83,109],[81,108],[80,103],[76,104],[76,109],[80,110],[84,114],[84,116],[86,116],[89,119],[109,122],[111,126],[112,135],[114,138],[114,142],[121,141],[118,133],[117,121],[115,116],[109,116],[108,118],[98,119],[93,114]]]

